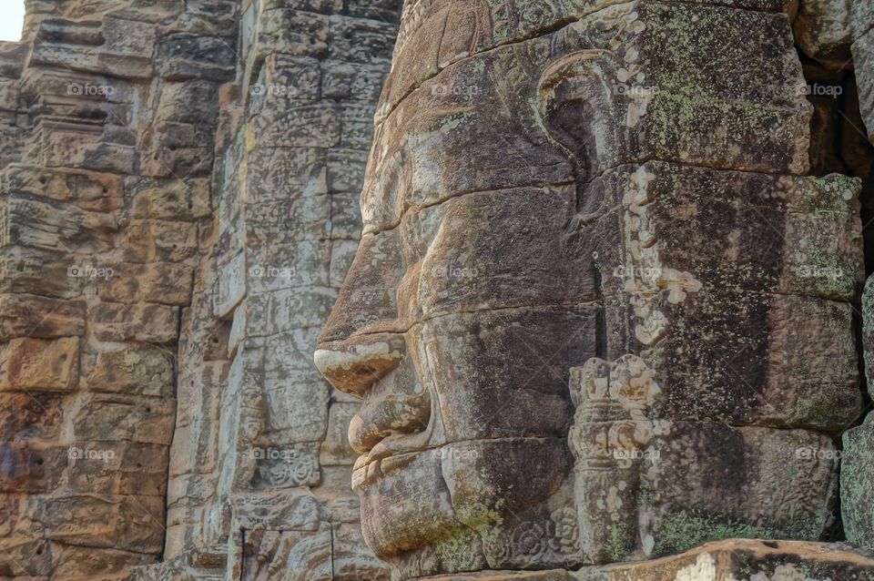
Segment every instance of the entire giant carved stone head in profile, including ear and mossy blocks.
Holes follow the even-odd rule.
[[[622,560],[635,550],[643,551],[638,557],[648,556],[654,545],[668,546],[656,534],[666,515],[685,508],[731,522],[765,519],[774,524],[775,537],[792,535],[786,531],[794,530],[793,519],[803,514],[818,535],[828,521],[832,466],[809,470],[787,455],[805,438],[819,442],[818,435],[784,432],[779,445],[767,448],[773,438],[762,428],[738,429],[729,438],[709,424],[690,423],[784,422],[829,431],[858,408],[848,356],[852,341],[845,341],[843,331],[819,344],[836,345],[822,356],[846,364],[832,366],[831,377],[798,382],[799,393],[837,390],[829,395],[840,402],[833,413],[798,412],[793,398],[799,393],[787,397],[784,387],[793,373],[807,377],[808,368],[818,366],[802,354],[799,323],[837,321],[846,314],[793,298],[822,291],[802,288],[810,283],[788,276],[781,262],[786,259],[775,259],[770,250],[777,244],[768,240],[766,222],[785,221],[787,232],[800,231],[786,217],[801,214],[786,208],[806,208],[804,200],[815,187],[801,178],[777,181],[761,171],[696,168],[798,172],[795,136],[766,131],[762,138],[760,126],[747,135],[744,111],[717,121],[704,111],[686,121],[729,143],[691,133],[686,138],[675,127],[678,113],[671,109],[676,99],[669,85],[692,78],[675,69],[691,71],[695,64],[660,52],[664,38],[674,34],[664,23],[696,22],[697,38],[725,25],[725,15],[682,3],[635,3],[537,36],[532,31],[553,29],[569,18],[554,14],[554,3],[497,4],[501,8],[491,13],[475,2],[407,6],[361,195],[364,235],[320,336],[321,372],[362,400],[349,435],[361,453],[352,479],[361,494],[368,545],[401,578],[409,578],[563,568]],[[530,5],[543,10],[525,8]],[[688,10],[697,10],[695,18]],[[672,11],[681,14],[667,14]],[[738,18],[749,17],[740,12]],[[757,25],[767,30],[772,21],[784,24],[767,18],[764,24],[727,26],[746,31]],[[647,30],[658,25],[664,27]],[[747,37],[753,36],[737,42]],[[716,45],[723,41],[714,36]],[[722,55],[716,45],[701,51],[708,58]],[[791,44],[785,48],[788,59],[797,59]],[[745,52],[750,54],[756,51]],[[729,57],[713,66],[716,74],[732,65]],[[769,78],[793,70],[791,63],[767,58],[757,69]],[[666,71],[662,92],[652,88],[658,79],[649,78],[659,70]],[[696,95],[716,86],[708,79],[695,82],[703,87],[693,87]],[[789,76],[780,94],[797,83]],[[688,90],[684,87],[675,90]],[[757,88],[751,87],[753,99]],[[714,102],[746,98],[738,92],[747,87],[728,89],[734,93],[714,95]],[[804,127],[801,103],[775,102],[785,116],[778,125]],[[790,105],[801,112],[787,112]],[[761,117],[755,119],[760,123]],[[764,147],[746,147],[756,139]],[[652,158],[666,162],[645,162]],[[677,165],[681,161],[689,167]],[[770,201],[750,198],[750,206],[758,207],[747,209],[744,197],[762,191]],[[705,199],[696,198],[702,194]],[[822,199],[836,204],[836,215],[843,216],[838,198]],[[762,203],[773,206],[767,215]],[[707,221],[709,211],[719,216],[716,229]],[[685,229],[669,228],[678,222]],[[820,226],[803,229],[834,234],[834,224]],[[718,246],[714,237],[723,237],[725,255],[698,253]],[[835,254],[852,261],[856,250],[845,239],[833,245]],[[738,247],[737,240],[758,245]],[[767,250],[762,256],[759,247]],[[756,268],[736,269],[736,261]],[[726,288],[750,292],[735,296],[725,294]],[[774,298],[767,295],[774,290]],[[797,312],[798,319],[788,320],[789,312]],[[762,333],[763,321],[773,321],[773,334]],[[711,372],[708,359],[736,343],[751,345],[740,382]],[[775,358],[769,352],[799,357]],[[572,430],[578,403],[569,392],[572,368],[627,354],[643,359],[625,360],[634,363],[633,373],[626,373],[634,382],[628,382],[630,392],[619,395],[628,400],[629,393],[640,392],[631,398],[639,404],[623,412],[627,417],[611,419],[621,423]],[[646,378],[643,391],[640,378]],[[656,380],[659,385],[649,384]],[[650,401],[655,395],[657,403]],[[590,412],[581,408],[577,417],[596,416]],[[665,418],[687,422],[676,424],[674,440]],[[592,442],[569,447],[569,433]],[[604,433],[615,438],[598,435]],[[723,446],[725,457],[702,444],[727,439],[737,445]],[[586,451],[606,454],[610,464],[613,451],[607,448],[614,441],[630,446],[625,452],[635,451],[635,445],[663,445],[677,457],[682,454],[676,451],[694,447],[689,443],[701,448],[688,464],[662,464],[677,466],[676,474],[655,466],[645,474],[649,489],[659,490],[647,501],[654,507],[641,509],[647,530],[636,528],[635,464],[620,459],[612,472],[574,478],[574,454],[577,469],[602,466]],[[727,499],[737,491],[767,498],[776,489],[800,489],[814,500],[803,506],[720,505],[723,491],[707,488],[712,480],[707,474],[734,474],[730,465],[744,454],[750,462],[774,464],[777,476],[726,478],[726,489],[734,491]],[[627,483],[615,483],[626,475]],[[622,494],[611,495],[614,484],[621,484]],[[679,508],[658,505],[678,495],[684,498]],[[616,505],[617,498],[625,505]],[[627,525],[620,536],[627,533],[627,539],[621,540],[623,547],[608,546],[610,523],[620,521]]]

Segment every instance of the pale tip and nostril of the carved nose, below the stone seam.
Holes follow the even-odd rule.
[[[316,367],[341,392],[362,397],[403,361],[402,335],[384,333],[370,340],[339,341],[313,355]]]

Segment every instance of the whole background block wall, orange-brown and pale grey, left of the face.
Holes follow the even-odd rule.
[[[381,578],[310,356],[400,12],[345,4],[33,0],[0,45],[0,576]]]

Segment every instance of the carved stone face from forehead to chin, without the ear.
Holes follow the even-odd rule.
[[[596,354],[597,315],[540,48],[453,66],[381,120],[320,337],[321,371],[362,398],[364,535],[401,576],[568,561],[568,376]]]

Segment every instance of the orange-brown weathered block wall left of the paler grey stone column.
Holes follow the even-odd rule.
[[[34,1],[27,18],[0,47],[0,576],[111,578],[163,550],[236,5]]]

